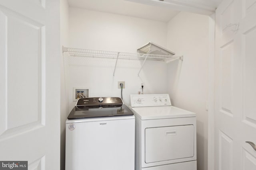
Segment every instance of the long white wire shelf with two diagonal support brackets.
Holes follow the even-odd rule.
[[[141,54],[141,53],[124,53],[124,52],[114,52],[114,51],[99,51],[99,50],[90,50],[90,49],[76,49],[62,47],[62,53],[68,53],[70,57],[95,57],[95,58],[104,58],[104,59],[116,59],[116,64],[118,59],[129,59],[129,60],[156,60],[164,61],[169,63],[177,59],[183,60],[183,56],[174,56],[174,55],[155,55],[155,54]],[[143,63],[144,64],[144,63]],[[142,64],[142,66],[143,66]],[[140,70],[142,67],[140,68]],[[116,65],[114,68],[115,74]],[[138,75],[140,74],[140,71]]]

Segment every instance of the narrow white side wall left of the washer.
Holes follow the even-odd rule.
[[[69,46],[68,1],[60,0],[60,45]],[[60,47],[62,50],[62,47]],[[62,54],[62,52],[61,52]],[[68,117],[68,91],[66,88],[63,56],[60,56],[60,169],[65,169],[65,121]]]

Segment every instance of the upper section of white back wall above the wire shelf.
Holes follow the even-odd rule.
[[[136,53],[148,41],[166,47],[167,23],[70,8],[70,46]]]

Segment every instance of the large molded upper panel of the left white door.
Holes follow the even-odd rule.
[[[40,125],[45,124],[45,28],[43,24],[3,6],[0,6],[0,18],[1,34],[3,35],[1,37],[4,37],[1,46],[4,49],[2,55],[4,58],[1,60],[5,61],[2,65],[3,74],[5,74],[5,87],[2,88],[4,89],[3,103],[5,103],[3,107],[5,108],[2,110],[5,114],[1,114],[0,126],[0,139],[3,140],[4,137],[15,135],[15,131],[24,133],[26,130],[31,131],[31,129],[37,129],[41,127]],[[28,30],[28,32],[24,30]],[[30,36],[34,33],[34,38],[26,39],[26,33]],[[34,49],[33,47],[26,48],[26,45],[12,41],[12,36],[20,37],[19,40],[22,43],[35,44]],[[30,66],[26,64],[33,60],[34,63]],[[35,80],[31,81],[32,78]],[[21,82],[22,79],[30,80],[27,80],[27,83],[19,84],[18,82]],[[24,90],[25,92],[22,92]],[[34,98],[30,95],[33,95]],[[26,105],[24,105],[24,100],[27,100]],[[33,108],[30,111],[32,114],[27,116],[27,109],[30,108]]]

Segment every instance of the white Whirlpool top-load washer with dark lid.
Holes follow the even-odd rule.
[[[66,170],[134,170],[134,138],[121,98],[81,98],[66,121]]]

